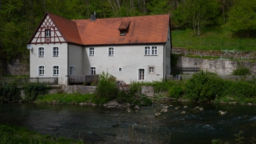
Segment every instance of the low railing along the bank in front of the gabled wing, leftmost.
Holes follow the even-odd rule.
[[[1,84],[26,84],[26,83],[45,83],[49,85],[58,84],[58,77],[3,77]]]

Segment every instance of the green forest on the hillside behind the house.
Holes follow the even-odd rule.
[[[228,26],[239,38],[255,38],[255,0],[0,0],[0,49],[8,60],[28,60],[26,45],[45,12],[66,19],[98,19],[170,13],[172,30]],[[173,44],[175,46],[175,44]]]

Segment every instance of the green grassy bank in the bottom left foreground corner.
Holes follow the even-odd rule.
[[[83,140],[74,141],[70,138],[56,138],[55,136],[41,135],[35,131],[29,131],[24,127],[0,125],[0,143],[43,144],[43,143],[84,143]]]

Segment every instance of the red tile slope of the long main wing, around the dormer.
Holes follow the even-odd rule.
[[[170,15],[74,20],[84,45],[166,43]],[[130,21],[125,36],[118,28]],[[122,26],[123,27],[123,26]]]

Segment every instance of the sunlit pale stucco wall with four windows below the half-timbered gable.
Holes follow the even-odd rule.
[[[67,44],[32,44],[30,51],[30,77],[59,77],[59,84],[67,84]],[[38,57],[38,47],[44,47],[44,57]],[[52,47],[59,47],[59,57],[52,57]],[[38,66],[45,67],[45,75],[38,76]],[[59,66],[59,76],[52,76],[52,66]]]

